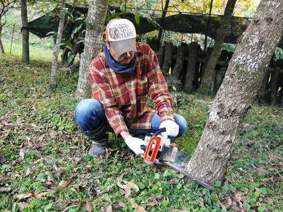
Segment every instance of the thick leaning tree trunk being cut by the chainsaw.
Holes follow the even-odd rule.
[[[214,184],[224,177],[238,146],[243,116],[255,101],[267,66],[283,34],[283,1],[262,0],[229,63],[209,110],[200,142],[187,165],[195,177]]]

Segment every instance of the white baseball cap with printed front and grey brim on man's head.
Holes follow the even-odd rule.
[[[136,52],[136,37],[134,24],[125,18],[112,19],[106,26],[105,40],[119,56],[124,52]]]

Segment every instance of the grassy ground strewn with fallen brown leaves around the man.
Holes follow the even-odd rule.
[[[0,54],[0,211],[283,211],[283,108],[255,104],[223,182],[212,192],[169,167],[149,167],[110,134],[100,158],[74,122],[77,73]],[[182,93],[191,155],[212,98]]]

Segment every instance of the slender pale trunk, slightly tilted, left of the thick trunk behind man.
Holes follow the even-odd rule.
[[[60,43],[62,40],[62,34],[63,34],[63,29],[64,29],[64,19],[65,19],[64,8],[65,6],[66,6],[66,1],[62,0],[61,10],[59,13],[59,27],[58,27],[58,33],[57,33],[57,40],[56,40],[56,45],[55,45],[54,52],[53,52],[52,66],[51,66],[50,83],[52,87],[57,86],[58,54],[60,51]]]

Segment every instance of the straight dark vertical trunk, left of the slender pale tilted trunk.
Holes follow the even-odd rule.
[[[21,0],[21,18],[22,18],[22,45],[23,45],[23,53],[22,53],[22,61],[29,63],[30,62],[30,47],[28,42],[28,8],[27,1]]]

